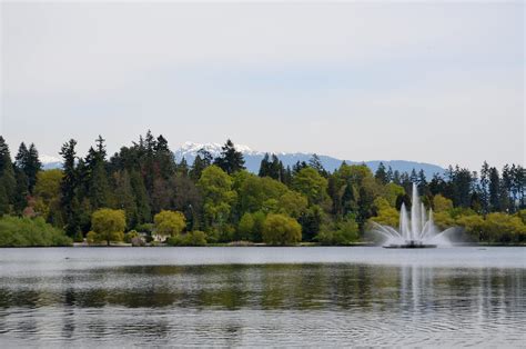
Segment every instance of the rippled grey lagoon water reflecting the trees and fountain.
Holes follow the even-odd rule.
[[[0,346],[526,343],[526,249],[0,249]]]

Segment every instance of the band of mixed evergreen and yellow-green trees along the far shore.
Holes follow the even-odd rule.
[[[398,227],[413,182],[439,228],[464,228],[458,239],[526,242],[519,164],[498,171],[485,162],[479,173],[449,167],[428,179],[382,163],[373,173],[343,161],[331,172],[316,154],[284,167],[266,154],[256,176],[230,140],[219,157],[203,149],[191,164],[176,162],[166,139],[150,131],[111,157],[102,137],[85,158],[75,146],[62,146],[62,169],[42,170],[34,144],[21,143],[12,162],[0,136],[0,247],[371,242],[371,221]]]

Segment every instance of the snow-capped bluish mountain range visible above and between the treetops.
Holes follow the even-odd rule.
[[[186,159],[189,164],[193,163],[198,151],[200,149],[205,149],[209,151],[212,157],[218,157],[221,153],[221,148],[223,144],[220,143],[195,143],[195,142],[185,142],[181,147],[176,148],[173,152],[174,158],[178,162],[180,162],[183,158]],[[245,167],[250,172],[257,173],[260,170],[261,160],[265,156],[265,151],[256,151],[252,150],[247,146],[243,144],[235,144],[235,148],[243,153],[245,159]],[[294,166],[297,161],[305,161],[312,158],[313,153],[310,152],[277,152],[275,153],[277,158],[283,162],[285,167]],[[337,159],[334,157],[318,154],[320,160],[322,161],[323,166],[328,171],[334,171],[341,164],[343,159]],[[61,159],[57,157],[50,156],[41,156],[40,160],[42,161],[44,169],[52,169],[52,168],[60,168],[62,166]],[[419,171],[421,169],[424,170],[426,177],[431,179],[434,173],[444,173],[444,169],[439,166],[426,162],[415,162],[415,161],[407,161],[407,160],[372,160],[372,161],[354,161],[354,160],[345,160],[347,164],[361,164],[365,163],[372,171],[376,171],[378,168],[380,162],[383,162],[386,168],[391,167],[393,171],[398,170],[399,172],[411,172],[413,169]]]

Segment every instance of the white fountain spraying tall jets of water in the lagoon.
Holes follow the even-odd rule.
[[[433,210],[429,209],[428,215],[426,215],[415,183],[413,183],[411,217],[405,205],[402,203],[398,230],[373,222],[373,231],[386,238],[384,248],[435,248],[437,246],[451,245],[446,233],[453,229],[455,228],[439,231],[436,228],[433,222]]]

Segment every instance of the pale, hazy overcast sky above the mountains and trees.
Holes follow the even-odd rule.
[[[524,164],[525,4],[7,2],[0,134]]]

